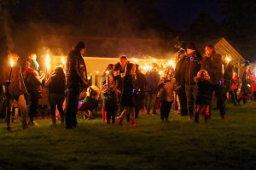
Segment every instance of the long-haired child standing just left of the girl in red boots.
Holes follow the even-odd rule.
[[[102,94],[104,96],[103,103],[104,110],[107,112],[107,123],[110,123],[112,118],[112,123],[115,121],[115,111],[117,111],[117,99],[118,94],[121,92],[117,89],[117,82],[113,80],[113,74],[108,74],[106,77],[106,83],[102,88]]]

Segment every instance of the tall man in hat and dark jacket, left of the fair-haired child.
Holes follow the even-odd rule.
[[[187,56],[185,61],[185,90],[190,120],[193,120],[194,116],[194,104],[196,94],[195,77],[197,75],[197,72],[201,69],[200,62],[201,54],[196,50],[195,44],[190,43],[187,46]]]

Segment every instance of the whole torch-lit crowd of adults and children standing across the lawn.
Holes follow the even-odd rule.
[[[67,56],[66,71],[55,67],[50,74],[40,75],[37,55],[30,54],[25,64],[18,65],[19,56],[9,54],[8,61],[13,65],[1,69],[1,94],[5,98],[7,129],[10,130],[14,100],[20,108],[22,127],[36,126],[34,116],[38,110],[38,99],[42,98],[42,87],[49,88],[49,107],[52,123],[56,124],[56,108],[61,124],[67,129],[78,127],[78,111],[87,111],[89,117],[102,101],[102,120],[123,125],[123,120],[137,127],[136,118],[142,110],[146,115],[157,115],[157,101],[160,101],[160,120],[166,122],[172,108],[178,105],[181,116],[190,121],[204,122],[211,119],[212,97],[216,99],[216,109],[222,119],[225,118],[226,100],[234,105],[246,104],[255,99],[255,75],[245,62],[241,77],[235,66],[224,62],[212,45],[207,45],[201,55],[194,43],[177,52],[175,69],[170,65],[164,68],[161,77],[159,65],[152,63],[146,73],[139,65],[132,63],[125,55],[119,62],[109,64],[102,75],[102,85],[97,88],[87,79],[83,55],[86,52],[84,42],[78,42]],[[224,65],[224,71],[223,71]],[[65,109],[63,109],[63,103]],[[79,105],[81,103],[81,105]],[[213,108],[215,109],[215,108]],[[28,120],[27,120],[28,117]]]

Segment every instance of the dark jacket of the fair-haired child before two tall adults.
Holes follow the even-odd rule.
[[[210,105],[212,100],[212,87],[214,83],[207,79],[198,79],[196,82],[197,93],[195,95],[196,105]]]

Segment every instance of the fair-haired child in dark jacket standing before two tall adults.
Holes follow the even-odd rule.
[[[210,79],[210,76],[206,70],[201,69],[198,71],[197,77],[195,77],[197,85],[197,93],[195,96],[195,122],[199,122],[199,115],[205,113],[205,122],[207,122],[210,112],[209,108],[212,99],[212,86],[214,85]]]

